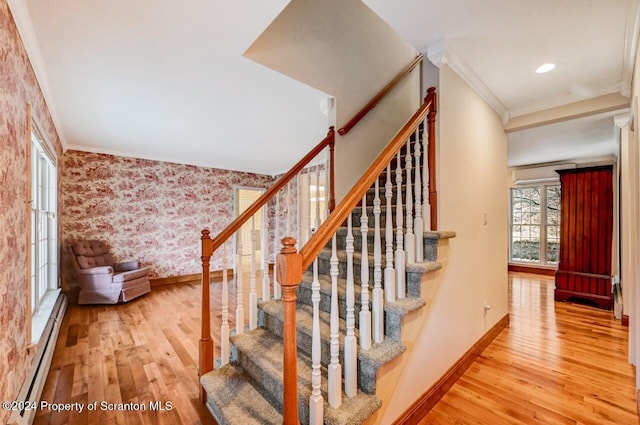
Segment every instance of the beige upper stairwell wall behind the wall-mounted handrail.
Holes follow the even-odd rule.
[[[245,56],[332,94],[337,130],[417,53],[360,0],[292,0]],[[417,70],[337,138],[336,201],[418,108],[425,93]]]

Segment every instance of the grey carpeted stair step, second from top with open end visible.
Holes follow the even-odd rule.
[[[345,251],[337,251],[336,255],[338,256],[338,277],[345,279],[347,277],[347,253]],[[359,252],[353,253],[353,270],[354,270],[354,282],[357,286],[361,284],[361,274],[360,274],[360,264],[361,264],[362,254]],[[369,253],[369,288],[373,288],[373,270],[374,270],[374,262],[373,262],[373,254]],[[329,271],[331,268],[330,264],[331,260],[331,250],[328,248],[324,248],[320,251],[318,255],[318,271],[321,275],[329,276]],[[382,286],[384,287],[384,268],[385,268],[385,260],[384,255],[382,256],[382,276],[383,282]],[[422,282],[422,275],[426,272],[439,270],[442,268],[442,265],[436,261],[423,261],[420,263],[411,263],[407,264],[405,267],[406,271],[406,279],[407,279],[407,295],[408,296],[420,296],[420,286]],[[312,266],[309,267],[309,270],[312,269]]]

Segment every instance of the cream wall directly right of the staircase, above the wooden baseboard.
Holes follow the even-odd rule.
[[[508,313],[507,137],[502,119],[448,66],[440,69],[439,228],[457,236],[428,320],[382,423],[390,423]],[[486,214],[487,223],[484,224]],[[439,252],[440,255],[440,252]],[[484,304],[491,305],[485,316]]]

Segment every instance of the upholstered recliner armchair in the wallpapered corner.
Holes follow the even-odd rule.
[[[78,304],[116,304],[151,291],[149,269],[138,260],[116,263],[104,242],[78,241],[67,247],[78,276]]]

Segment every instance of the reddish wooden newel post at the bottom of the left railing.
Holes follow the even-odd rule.
[[[200,362],[198,376],[213,370],[213,339],[211,339],[211,305],[209,297],[209,260],[213,254],[213,241],[208,230],[202,231],[202,335],[200,336]],[[200,386],[200,401],[206,403],[207,393]]]

